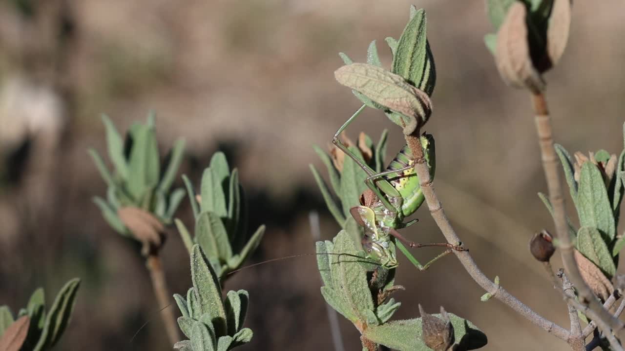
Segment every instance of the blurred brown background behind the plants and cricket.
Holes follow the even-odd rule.
[[[319,211],[324,239],[338,227],[309,171],[311,163],[323,169],[311,146],[327,146],[360,106],[334,81],[337,52],[362,62],[377,39],[388,67],[383,39],[399,37],[410,4],[427,11],[436,59],[427,132],[436,137],[434,184],[446,213],[486,275],[566,326],[564,302],[527,250],[536,230],[552,227],[536,196],[546,184],[529,96],[499,79],[482,41],[491,31],[482,1],[0,2],[0,302],[16,311],[43,286],[50,304],[66,280],[81,277],[58,349],[171,350],[139,251],[91,202],[106,191],[86,152],[105,150],[103,112],[125,131],[156,111],[162,152],[184,137],[181,173],[196,185],[212,153],[226,152],[241,172],[250,228],[267,224],[251,262],[314,252],[309,211]],[[574,4],[569,45],[546,77],[556,140],[569,152],[622,149],[624,20],[622,1]],[[389,159],[403,139],[379,112],[368,110],[348,132],[377,140],[384,128]],[[190,225],[187,200],[177,217]],[[408,237],[443,240],[427,210],[416,217]],[[424,262],[437,252],[415,255]],[[175,229],[163,260],[172,292],[186,292],[189,258]],[[480,302],[484,292],[454,257],[426,272],[400,262],[397,284],[406,290],[395,295],[396,319],[417,317],[417,304],[429,312],[443,305],[486,332],[486,350],[568,349],[497,300]],[[227,289],[251,296],[254,339],[244,349],[331,349],[320,285],[312,256],[228,280]],[[341,327],[347,349],[357,349],[357,330],[344,319]]]

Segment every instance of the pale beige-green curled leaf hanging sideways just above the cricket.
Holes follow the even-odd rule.
[[[411,134],[417,127],[417,119],[426,122],[429,117],[429,102],[423,101],[425,94],[406,80],[369,64],[354,63],[334,71],[334,77],[340,84],[350,87],[401,115],[391,121],[403,127],[404,134]],[[426,106],[427,104],[427,106]],[[387,115],[388,116],[388,115]]]

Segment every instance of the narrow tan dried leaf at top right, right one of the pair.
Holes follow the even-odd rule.
[[[547,54],[555,66],[562,57],[571,27],[571,1],[554,0],[547,29]]]

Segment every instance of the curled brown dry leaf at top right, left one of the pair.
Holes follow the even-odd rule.
[[[495,61],[502,79],[514,87],[526,87],[534,94],[544,90],[544,81],[529,55],[527,10],[521,1],[512,4],[497,32]]]

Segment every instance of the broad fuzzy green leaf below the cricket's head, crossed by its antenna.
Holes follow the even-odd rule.
[[[365,320],[366,310],[374,309],[367,272],[359,264],[354,242],[345,230],[334,237],[334,252],[341,255],[330,257],[332,285],[340,287],[337,294],[360,320]]]

